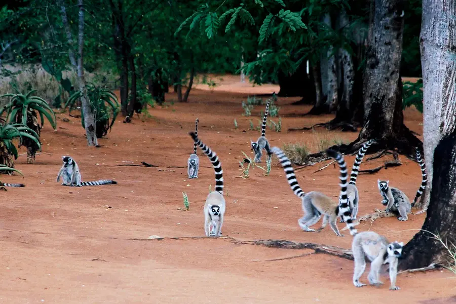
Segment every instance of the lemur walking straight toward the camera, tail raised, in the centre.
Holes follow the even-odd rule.
[[[207,155],[215,171],[215,191],[208,194],[204,204],[204,232],[206,237],[220,236],[226,207],[223,198],[223,170],[215,152],[205,145],[194,132],[190,132],[190,136]],[[209,233],[209,231],[211,232]]]

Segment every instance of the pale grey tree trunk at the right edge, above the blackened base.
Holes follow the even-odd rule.
[[[433,154],[440,139],[454,130],[456,112],[456,1],[423,0],[420,35],[423,70],[423,137],[428,185],[415,206],[429,205],[434,184]]]

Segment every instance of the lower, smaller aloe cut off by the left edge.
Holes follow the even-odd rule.
[[[0,165],[14,168],[14,159],[17,159],[17,148],[13,143],[14,139],[19,139],[19,146],[24,145],[24,141],[33,142],[38,150],[41,150],[38,134],[22,124],[0,125]]]

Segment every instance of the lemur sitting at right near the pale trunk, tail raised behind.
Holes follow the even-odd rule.
[[[420,188],[416,192],[415,199],[413,200],[413,205],[416,203],[418,198],[423,194],[423,190],[426,188],[427,174],[426,166],[424,165],[423,159],[421,158],[421,152],[419,149],[416,149],[416,160],[420,164],[421,173],[422,173],[422,182]],[[382,204],[387,206],[385,211],[392,211],[394,213],[399,213],[400,216],[397,217],[398,220],[405,221],[408,219],[408,213],[412,205],[408,197],[400,191],[398,188],[390,187],[389,180],[377,180],[378,189],[380,194],[384,198]]]

